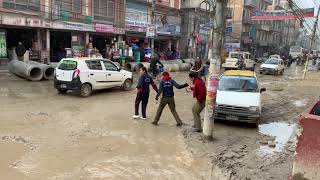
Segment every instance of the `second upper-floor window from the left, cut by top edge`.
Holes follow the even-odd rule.
[[[64,13],[73,12],[81,14],[81,0],[56,0],[55,4]]]

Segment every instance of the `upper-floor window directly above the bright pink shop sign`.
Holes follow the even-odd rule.
[[[114,0],[94,0],[93,15],[98,21],[114,20]]]

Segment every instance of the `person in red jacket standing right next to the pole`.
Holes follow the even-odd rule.
[[[190,80],[193,82],[193,86],[191,90],[193,91],[193,97],[196,99],[196,102],[192,108],[192,114],[194,118],[194,132],[201,132],[201,116],[200,113],[205,107],[206,104],[206,96],[207,96],[207,89],[206,85],[203,80],[198,76],[197,73],[191,72],[189,74]]]

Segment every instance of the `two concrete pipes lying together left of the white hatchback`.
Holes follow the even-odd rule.
[[[35,61],[12,60],[8,68],[11,73],[31,81],[54,78],[54,67]]]

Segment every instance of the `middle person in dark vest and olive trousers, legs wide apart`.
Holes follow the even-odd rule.
[[[166,105],[169,105],[169,108],[171,110],[172,115],[174,116],[177,126],[182,125],[182,121],[176,111],[176,104],[174,101],[174,92],[173,92],[173,87],[176,87],[177,89],[182,89],[185,87],[188,87],[189,85],[183,84],[179,85],[176,81],[171,79],[170,75],[168,72],[163,73],[163,78],[160,82],[159,85],[159,91],[156,96],[156,100],[159,99],[159,96],[162,94],[162,98],[160,100],[160,104],[157,110],[156,117],[154,118],[154,121],[152,122],[153,125],[158,125],[158,122],[160,120],[161,114],[163,109],[166,107]]]

